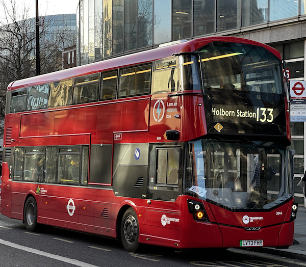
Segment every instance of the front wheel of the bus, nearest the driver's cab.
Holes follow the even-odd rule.
[[[139,224],[136,212],[133,208],[129,208],[124,212],[121,221],[120,234],[124,249],[130,252],[135,252],[139,247]]]

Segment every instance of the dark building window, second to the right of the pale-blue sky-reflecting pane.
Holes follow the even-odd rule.
[[[215,32],[215,0],[193,1],[193,35]]]

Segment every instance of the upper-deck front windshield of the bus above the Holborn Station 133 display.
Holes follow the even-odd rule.
[[[282,62],[264,47],[213,42],[200,49],[206,91],[282,94]]]

